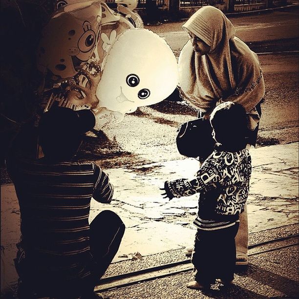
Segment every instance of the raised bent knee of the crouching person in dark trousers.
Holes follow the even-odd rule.
[[[98,214],[89,227],[90,251],[96,263],[94,273],[99,280],[119,249],[125,224],[117,214],[106,210]]]

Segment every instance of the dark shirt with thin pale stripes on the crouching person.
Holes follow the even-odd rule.
[[[89,210],[93,197],[109,203],[113,186],[92,162],[8,163],[21,210],[21,258],[47,271],[83,278],[90,274]]]

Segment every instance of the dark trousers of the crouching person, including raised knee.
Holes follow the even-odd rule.
[[[66,283],[56,281],[53,277],[46,278],[44,274],[41,274],[41,281],[38,279],[32,281],[31,275],[28,276],[32,267],[30,267],[30,262],[27,262],[29,265],[24,267],[25,272],[18,271],[22,280],[19,297],[22,299],[38,298],[33,295],[37,293],[41,297],[59,299],[74,299],[79,296],[80,299],[94,298],[94,287],[99,283],[101,276],[116,255],[124,232],[125,224],[117,214],[112,211],[101,212],[90,223],[90,252],[93,260],[91,265],[86,266],[91,267],[92,276],[83,280],[77,278]]]

